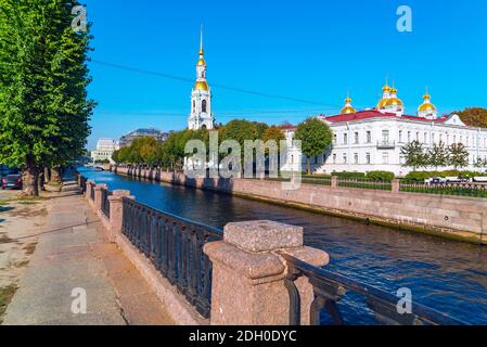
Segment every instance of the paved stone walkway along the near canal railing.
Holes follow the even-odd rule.
[[[46,231],[3,324],[172,324],[130,261],[106,241],[98,217],[73,188],[49,202]],[[72,311],[79,299],[76,288],[86,291],[86,314]]]

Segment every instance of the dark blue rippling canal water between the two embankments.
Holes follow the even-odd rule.
[[[80,171],[110,190],[130,190],[143,204],[220,229],[231,221],[257,219],[302,226],[305,243],[330,254],[328,270],[393,294],[410,288],[415,303],[487,324],[487,247],[106,171]],[[373,322],[360,313],[359,297],[347,295],[341,305],[347,323]]]

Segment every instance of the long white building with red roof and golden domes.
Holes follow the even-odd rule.
[[[438,117],[427,91],[415,116],[403,114],[397,90],[386,85],[375,108],[357,112],[347,98],[339,115],[319,118],[331,127],[334,140],[322,155],[311,158],[311,168],[317,174],[386,170],[407,175],[412,168],[402,166],[400,153],[402,146],[415,140],[425,149],[439,142],[463,143],[470,153],[470,167],[465,169],[474,170],[477,160],[487,159],[487,129],[467,127],[458,115]],[[289,151],[281,169],[306,170],[306,157],[292,145],[295,127],[286,127],[284,132]]]

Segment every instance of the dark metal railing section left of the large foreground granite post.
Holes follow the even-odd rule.
[[[121,232],[204,317],[210,312],[212,262],[203,253],[221,230],[124,197]]]

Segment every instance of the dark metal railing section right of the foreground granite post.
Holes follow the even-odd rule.
[[[300,324],[300,296],[294,283],[298,278],[308,278],[313,288],[315,299],[310,307],[311,325],[321,325],[322,313],[328,313],[333,324],[345,323],[344,316],[337,303],[353,292],[364,297],[367,310],[373,312],[380,324],[386,325],[465,325],[465,322],[451,318],[445,313],[423,305],[411,303],[411,313],[400,314],[397,310],[399,298],[387,292],[356,282],[346,277],[313,267],[290,255],[282,255],[287,264],[285,286],[290,294],[290,324]],[[369,311],[369,313],[370,313]]]

